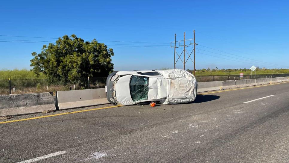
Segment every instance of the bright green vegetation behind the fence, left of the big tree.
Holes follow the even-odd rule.
[[[37,78],[36,75],[27,69],[14,69],[14,70],[0,70],[0,79],[46,79],[44,74],[40,74]]]

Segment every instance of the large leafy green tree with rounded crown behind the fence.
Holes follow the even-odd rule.
[[[113,71],[113,50],[95,39],[91,42],[64,35],[55,44],[43,45],[41,53],[32,53],[31,71],[43,73],[49,82],[73,82],[77,78],[107,77]]]

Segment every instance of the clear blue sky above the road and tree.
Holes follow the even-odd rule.
[[[0,35],[95,38],[113,48],[115,70],[140,70],[173,68],[174,34],[191,39],[195,29],[196,69],[289,68],[288,7],[288,1],[3,1]],[[31,53],[43,45],[1,41],[56,40],[29,37],[0,36],[0,69],[30,69]],[[186,69],[192,67],[188,60]]]

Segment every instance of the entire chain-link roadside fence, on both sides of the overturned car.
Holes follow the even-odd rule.
[[[258,74],[243,75],[241,79],[259,79],[285,77],[289,74]],[[239,80],[240,75],[212,75],[196,76],[197,82],[213,82],[223,80]],[[62,90],[80,90],[104,88],[106,78],[81,78],[76,82],[69,84],[49,84],[46,79],[10,79],[0,80],[0,95],[4,94],[23,94],[23,93],[40,93],[56,92]]]

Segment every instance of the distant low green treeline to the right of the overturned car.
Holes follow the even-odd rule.
[[[192,72],[192,70],[187,70],[189,72]],[[256,68],[256,74],[280,74],[280,73],[289,73],[289,69],[267,69],[267,68]],[[206,76],[206,75],[239,75],[240,73],[243,73],[244,75],[251,74],[250,69],[218,69],[217,67],[215,69],[201,69],[196,70],[196,76]],[[255,74],[255,72],[252,71],[252,74]]]

